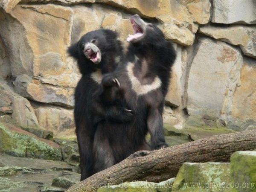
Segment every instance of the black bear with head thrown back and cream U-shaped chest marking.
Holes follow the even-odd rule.
[[[127,106],[133,113],[130,122],[104,122],[97,125],[93,151],[98,157],[94,170],[119,163],[139,150],[168,147],[163,134],[163,106],[175,50],[163,32],[139,15],[131,17],[134,35],[129,35],[127,55],[113,73],[102,79],[98,101]],[[121,104],[122,102],[125,102]],[[151,135],[150,146],[145,140]]]

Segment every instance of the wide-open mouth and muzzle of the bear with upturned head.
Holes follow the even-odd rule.
[[[134,30],[134,34],[133,35],[128,35],[128,38],[126,39],[126,41],[128,41],[128,42],[138,41],[141,38],[143,38],[143,36],[144,36],[143,26],[138,24],[138,23],[141,23],[142,19],[140,18],[139,15],[134,15],[133,17],[131,17],[130,20],[131,20],[131,25],[132,25],[133,30]],[[144,22],[141,23],[141,24],[144,24]]]

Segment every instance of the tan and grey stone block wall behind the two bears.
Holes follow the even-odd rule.
[[[156,23],[177,50],[164,122],[256,127],[255,0],[3,0],[0,115],[73,135],[81,75],[67,47],[101,27],[118,31],[127,46],[134,13]]]

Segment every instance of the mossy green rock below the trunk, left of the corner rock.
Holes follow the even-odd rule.
[[[230,182],[229,163],[184,163],[172,192],[230,192]]]

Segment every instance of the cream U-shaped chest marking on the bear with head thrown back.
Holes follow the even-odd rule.
[[[162,81],[158,76],[154,78],[154,81],[151,84],[141,84],[139,79],[137,79],[137,77],[134,76],[133,67],[134,64],[129,62],[126,69],[128,72],[128,77],[131,81],[131,87],[137,93],[138,96],[145,95],[148,92],[151,92],[161,87]]]

